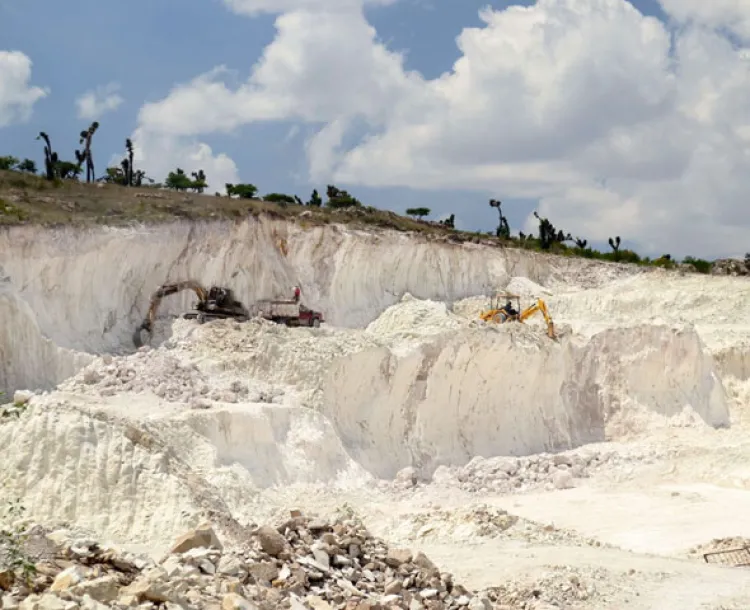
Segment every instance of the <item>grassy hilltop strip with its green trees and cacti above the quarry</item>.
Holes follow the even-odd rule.
[[[37,174],[31,159],[14,156],[0,157],[0,225],[36,223],[54,224],[128,224],[132,222],[164,222],[175,217],[190,219],[239,219],[248,214],[294,218],[306,225],[346,222],[399,231],[414,231],[431,235],[450,235],[451,241],[486,242],[502,247],[523,248],[562,256],[578,256],[602,261],[674,268],[678,264],[669,254],[656,259],[641,257],[622,248],[618,235],[609,238],[610,252],[600,252],[589,246],[587,239],[573,238],[555,227],[548,218],[534,217],[539,226],[536,235],[519,232],[511,235],[508,218],[503,214],[502,202],[490,199],[490,207],[497,210],[498,224],[486,233],[459,231],[455,228],[455,214],[442,220],[427,220],[432,214],[428,207],[413,207],[401,216],[387,210],[364,206],[349,192],[335,185],[326,186],[325,201],[314,189],[304,202],[297,195],[268,193],[258,197],[258,187],[250,183],[226,184],[226,195],[202,195],[208,188],[209,177],[202,169],[188,174],[182,168],[168,173],[163,183],[157,183],[143,170],[135,167],[133,142],[125,140],[125,155],[118,166],[107,167],[100,177],[95,175],[92,142],[99,123],[92,123],[80,132],[80,149],[74,151],[76,161],[66,161],[53,149],[49,136],[40,132],[37,140],[44,142],[44,170]],[[79,179],[86,169],[86,183]],[[93,188],[90,183],[97,182]],[[123,188],[124,187],[124,188]],[[304,217],[301,213],[305,212]],[[691,256],[682,261],[699,273],[710,273],[713,263]],[[750,267],[750,265],[748,265]]]

